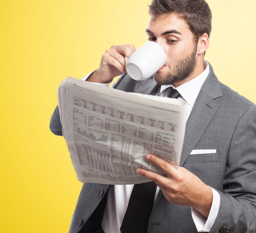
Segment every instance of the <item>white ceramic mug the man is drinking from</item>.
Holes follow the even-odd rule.
[[[149,78],[166,63],[164,49],[153,41],[147,41],[128,59],[126,72],[137,81]]]

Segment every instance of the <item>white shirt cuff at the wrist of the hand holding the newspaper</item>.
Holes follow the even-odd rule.
[[[217,218],[218,212],[219,212],[220,195],[215,189],[211,188],[211,190],[213,192],[213,201],[212,201],[211,210],[210,210],[210,213],[209,213],[209,216],[207,219],[205,217],[203,217],[198,211],[191,208],[192,218],[193,218],[195,227],[198,232],[211,231],[211,228],[213,227],[213,224],[214,224],[214,222]]]

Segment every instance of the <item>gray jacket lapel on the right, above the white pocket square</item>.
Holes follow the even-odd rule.
[[[191,151],[195,148],[200,137],[219,108],[216,98],[222,96],[220,83],[213,73],[210,65],[210,73],[205,80],[195,105],[186,123],[186,132],[182,148],[180,166],[184,164]]]

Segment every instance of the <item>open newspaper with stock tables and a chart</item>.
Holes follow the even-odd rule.
[[[179,168],[186,126],[185,101],[116,90],[67,77],[58,88],[63,136],[77,179],[139,184],[145,168],[165,175],[147,153]]]

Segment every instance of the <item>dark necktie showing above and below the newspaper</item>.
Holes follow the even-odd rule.
[[[180,93],[172,87],[166,89],[168,98],[178,98]],[[147,233],[148,219],[152,211],[156,184],[135,184],[121,225],[121,233]]]

